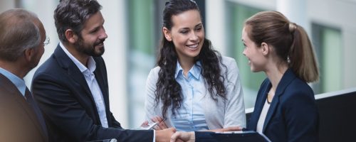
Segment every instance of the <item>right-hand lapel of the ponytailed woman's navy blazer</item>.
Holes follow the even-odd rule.
[[[278,83],[276,92],[274,94],[273,100],[271,102],[271,106],[268,109],[267,112],[267,116],[265,119],[265,122],[263,124],[263,133],[266,130],[266,127],[268,126],[269,121],[271,121],[271,118],[274,114],[274,112],[276,111],[278,104],[279,104],[279,97],[281,97],[284,93],[284,90],[286,89],[286,87],[288,87],[288,85],[290,84],[290,82],[295,78],[295,75],[293,74],[293,71],[288,69],[286,70],[286,72],[284,73],[281,81]],[[269,87],[271,88],[271,87]],[[266,92],[267,94],[267,92]],[[266,100],[266,99],[265,99]]]

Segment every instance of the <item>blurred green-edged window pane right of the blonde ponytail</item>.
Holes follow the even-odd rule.
[[[320,80],[313,85],[315,94],[342,89],[342,37],[337,28],[313,23],[313,43],[318,56]]]

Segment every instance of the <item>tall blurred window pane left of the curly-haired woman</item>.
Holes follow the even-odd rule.
[[[155,14],[153,0],[128,0],[128,112],[129,127],[136,128],[145,119],[145,85],[155,65]],[[139,89],[138,89],[139,88]]]

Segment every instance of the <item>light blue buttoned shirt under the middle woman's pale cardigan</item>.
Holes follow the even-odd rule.
[[[205,87],[204,79],[201,77],[201,64],[197,62],[187,73],[183,75],[183,69],[177,62],[175,78],[182,87],[182,107],[177,114],[172,116],[172,124],[177,131],[199,131],[207,130],[203,102]]]

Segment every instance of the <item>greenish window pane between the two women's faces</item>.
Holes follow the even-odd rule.
[[[245,107],[254,107],[258,88],[261,82],[266,78],[263,72],[251,72],[248,60],[242,52],[244,51],[244,45],[241,42],[242,28],[244,28],[244,21],[262,9],[256,9],[250,6],[244,6],[234,2],[226,1],[227,12],[230,18],[227,18],[228,31],[226,33],[228,42],[229,57],[235,58],[237,65],[239,66],[241,83],[244,89]]]

